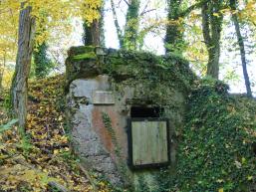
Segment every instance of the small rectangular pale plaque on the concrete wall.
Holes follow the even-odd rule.
[[[113,92],[94,91],[93,103],[94,104],[115,104],[115,96]]]

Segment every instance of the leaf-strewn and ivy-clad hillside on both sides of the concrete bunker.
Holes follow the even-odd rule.
[[[94,182],[97,176],[72,154],[63,85],[63,76],[30,82],[26,136],[15,126],[0,132],[0,191],[117,191]],[[159,192],[256,191],[256,100],[227,89],[207,79],[195,83],[178,138],[176,174],[162,172]],[[1,123],[7,121],[3,103]]]

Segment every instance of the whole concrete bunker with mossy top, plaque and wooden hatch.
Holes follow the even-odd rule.
[[[154,191],[173,171],[195,76],[177,56],[74,47],[66,61],[68,123],[83,165],[113,185]]]

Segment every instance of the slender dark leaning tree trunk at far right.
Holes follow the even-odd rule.
[[[230,7],[232,11],[236,10],[236,1],[230,0]],[[245,48],[244,48],[244,40],[240,31],[240,24],[237,18],[237,15],[235,13],[232,13],[232,21],[235,26],[236,31],[236,37],[237,42],[240,50],[240,56],[241,56],[241,62],[242,62],[242,68],[243,68],[243,76],[244,76],[244,82],[246,87],[247,96],[252,96],[251,86],[250,86],[250,79],[247,72],[247,62],[246,62],[246,54],[245,54]]]

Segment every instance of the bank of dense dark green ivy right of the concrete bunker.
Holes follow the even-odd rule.
[[[255,184],[256,102],[229,96],[227,89],[211,79],[196,84],[177,152],[176,178],[168,182],[171,190],[249,191]]]

